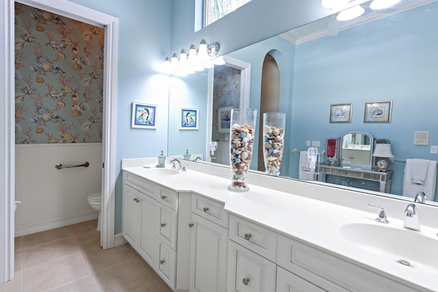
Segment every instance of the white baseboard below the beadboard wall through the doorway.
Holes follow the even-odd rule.
[[[50,230],[53,228],[59,228],[63,226],[68,226],[71,224],[76,224],[79,222],[84,222],[88,220],[97,219],[99,213],[92,212],[82,215],[77,215],[73,217],[61,218],[57,220],[51,220],[47,222],[39,222],[35,224],[26,224],[23,226],[15,226],[15,237],[29,235],[32,233],[39,233],[41,231]]]

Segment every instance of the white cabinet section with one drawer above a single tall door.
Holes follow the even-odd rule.
[[[190,291],[227,290],[228,213],[224,204],[192,195]]]

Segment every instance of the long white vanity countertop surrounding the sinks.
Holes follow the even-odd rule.
[[[224,208],[230,213],[240,215],[276,230],[282,235],[301,241],[350,263],[355,263],[397,282],[402,282],[419,291],[438,291],[438,274],[436,272],[438,269],[403,266],[397,263],[396,260],[391,261],[385,256],[365,252],[365,250],[350,243],[341,235],[339,228],[344,224],[381,224],[374,221],[378,214],[375,209],[363,211],[299,196],[294,194],[292,188],[289,188],[291,191],[287,193],[275,191],[268,185],[266,187],[249,185],[250,190],[247,192],[232,192],[227,189],[231,179],[190,169],[187,172],[168,176],[159,176],[142,166],[125,166],[123,170],[175,191],[192,192],[224,202]],[[288,182],[287,180],[279,180],[279,183],[287,184]],[[300,182],[294,181],[294,184],[296,183]],[[312,187],[312,184],[303,184],[305,184],[303,187],[307,188],[308,192],[317,190]],[[315,187],[317,186],[315,185]],[[287,189],[287,185],[283,186],[283,189]],[[394,217],[389,219],[390,223],[386,226],[402,229],[406,232],[417,232],[402,228],[402,220]],[[424,252],[438,252],[437,232],[437,228],[422,226],[421,233],[437,241],[437,250],[425,250]],[[421,247],[413,246],[412,248]]]

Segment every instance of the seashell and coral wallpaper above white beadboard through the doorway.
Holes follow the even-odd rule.
[[[15,143],[102,142],[105,31],[15,3]]]

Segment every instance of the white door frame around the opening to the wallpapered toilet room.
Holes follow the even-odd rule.
[[[14,279],[14,185],[15,185],[15,121],[14,121],[14,0],[3,0],[0,15],[0,283]],[[118,18],[86,8],[67,0],[18,0],[77,21],[105,27],[103,72],[103,141],[101,245],[114,247],[114,209],[116,189],[116,94]],[[111,81],[111,82],[110,82]],[[10,96],[11,98],[7,98]]]

